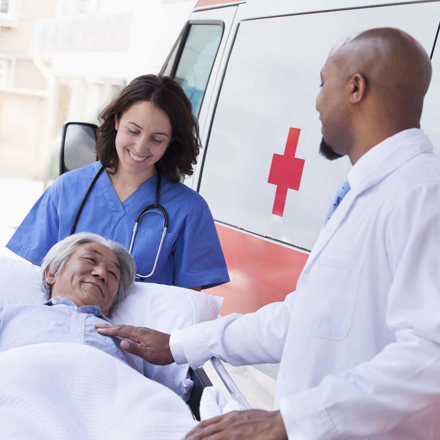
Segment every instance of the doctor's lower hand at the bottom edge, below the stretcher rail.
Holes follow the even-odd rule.
[[[287,433],[280,411],[246,410],[204,420],[185,439],[285,440]]]

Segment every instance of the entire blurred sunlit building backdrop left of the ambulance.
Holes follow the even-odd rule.
[[[0,177],[52,179],[66,120],[157,73],[195,0],[0,0]]]

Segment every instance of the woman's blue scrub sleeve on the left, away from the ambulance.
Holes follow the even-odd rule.
[[[40,265],[58,242],[59,218],[53,186],[44,191],[26,215],[6,247],[31,263]]]

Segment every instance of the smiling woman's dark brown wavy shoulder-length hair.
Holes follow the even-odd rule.
[[[173,129],[165,154],[156,162],[157,169],[173,183],[181,176],[191,176],[200,150],[198,122],[185,92],[168,76],[138,76],[102,111],[98,117],[101,126],[96,132],[98,159],[116,173],[119,159],[115,146],[115,117],[121,119],[124,111],[139,101],[151,102],[165,111]]]

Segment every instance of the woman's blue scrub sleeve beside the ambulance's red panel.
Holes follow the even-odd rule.
[[[202,288],[229,281],[219,236],[206,203],[187,221],[173,255],[173,285]]]

